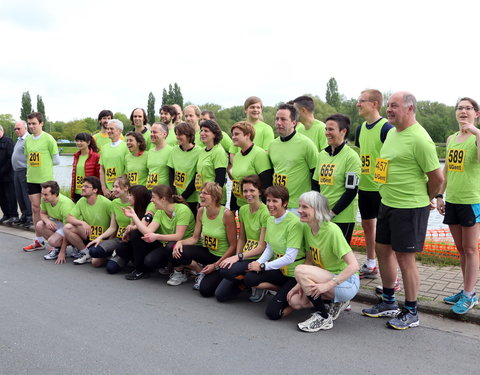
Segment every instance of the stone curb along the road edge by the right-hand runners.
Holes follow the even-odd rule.
[[[361,288],[353,300],[355,302],[363,302],[374,305],[378,302],[378,296],[369,289]],[[478,308],[471,309],[465,315],[458,315],[451,311],[451,305],[436,301],[419,301],[417,309],[419,312],[425,314],[437,315],[441,316],[442,318],[480,325],[480,309]]]

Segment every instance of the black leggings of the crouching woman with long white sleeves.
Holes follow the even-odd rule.
[[[287,294],[297,284],[297,280],[295,280],[294,277],[285,276],[280,270],[270,270],[259,273],[248,272],[245,275],[244,283],[248,287],[253,288],[264,282],[280,287],[265,310],[265,314],[267,314],[269,319],[278,320],[282,317],[285,307],[288,306]]]

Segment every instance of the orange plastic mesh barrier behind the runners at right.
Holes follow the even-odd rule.
[[[365,247],[363,230],[353,232],[352,246]],[[459,259],[457,248],[448,229],[429,229],[425,237],[425,245],[422,254],[437,256],[440,258]]]

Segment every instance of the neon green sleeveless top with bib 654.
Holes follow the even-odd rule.
[[[218,257],[225,254],[230,247],[227,230],[223,223],[224,213],[225,207],[220,206],[220,211],[217,217],[210,220],[207,217],[207,209],[204,208],[202,216],[203,246],[205,246],[210,253]]]

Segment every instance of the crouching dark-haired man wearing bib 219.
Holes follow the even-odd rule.
[[[100,180],[97,177],[85,177],[82,198],[67,217],[67,224],[63,229],[65,238],[80,251],[80,257],[73,261],[74,264],[92,261],[86,245],[110,226],[112,202],[103,195],[98,195],[100,188]]]

